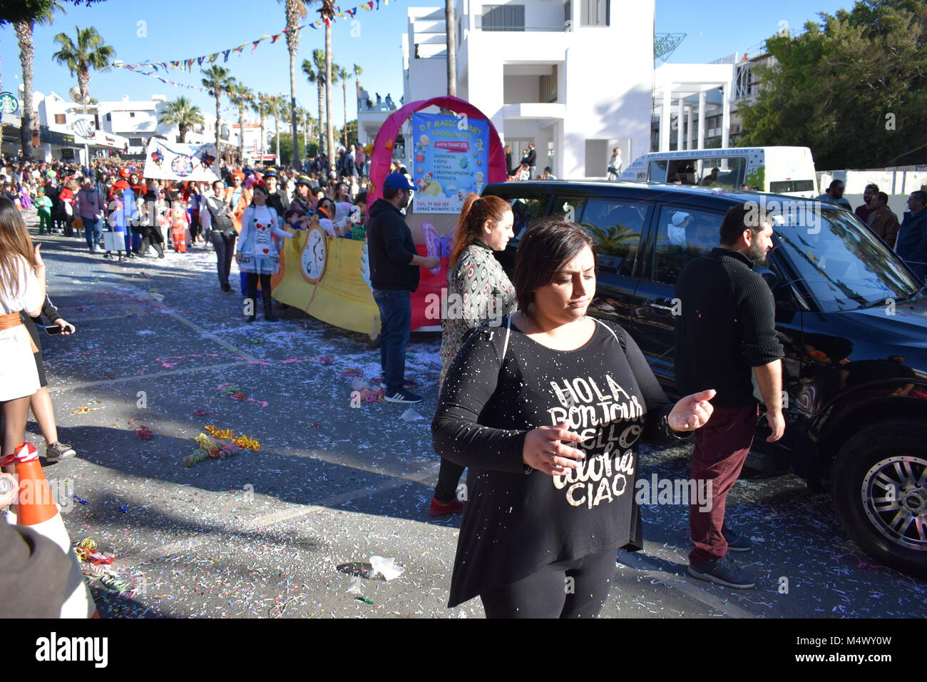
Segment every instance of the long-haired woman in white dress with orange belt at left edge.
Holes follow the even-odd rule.
[[[12,455],[26,439],[26,417],[39,372],[32,357],[29,331],[19,312],[36,316],[45,300],[45,265],[41,244],[32,238],[16,204],[0,199],[0,405],[3,406],[3,450]],[[12,473],[13,468],[4,470]]]

